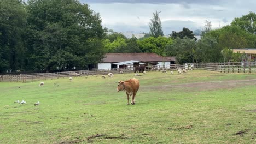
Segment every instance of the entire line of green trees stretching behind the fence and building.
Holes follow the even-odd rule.
[[[164,37],[158,11],[143,38],[107,34],[100,14],[78,0],[0,0],[0,13],[0,73],[88,69],[112,52],[154,52],[176,56],[177,63],[239,62],[244,55],[231,49],[256,45],[253,12],[214,30],[206,21],[199,40],[185,27]]]

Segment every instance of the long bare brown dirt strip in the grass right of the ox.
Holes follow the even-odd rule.
[[[184,84],[172,84],[172,85],[162,85],[162,86],[146,86],[142,89],[146,90],[161,90],[165,91],[167,89],[189,89],[189,91],[207,91],[212,89],[229,89],[241,86],[256,85],[256,79],[250,80],[226,80],[226,81],[209,81],[209,82],[194,82],[194,83],[184,83]]]

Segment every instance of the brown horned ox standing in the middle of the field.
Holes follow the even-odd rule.
[[[125,91],[127,95],[127,105],[129,104],[129,96],[132,95],[131,104],[135,104],[135,95],[139,89],[139,80],[132,78],[126,81],[118,81],[117,91]]]

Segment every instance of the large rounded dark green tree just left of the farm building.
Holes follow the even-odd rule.
[[[101,61],[104,29],[100,15],[87,4],[78,0],[30,0],[27,8],[28,63],[36,65],[34,69],[84,69]]]

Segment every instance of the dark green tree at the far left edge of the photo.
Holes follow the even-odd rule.
[[[20,0],[1,0],[0,14],[0,72],[24,69],[27,11]]]

